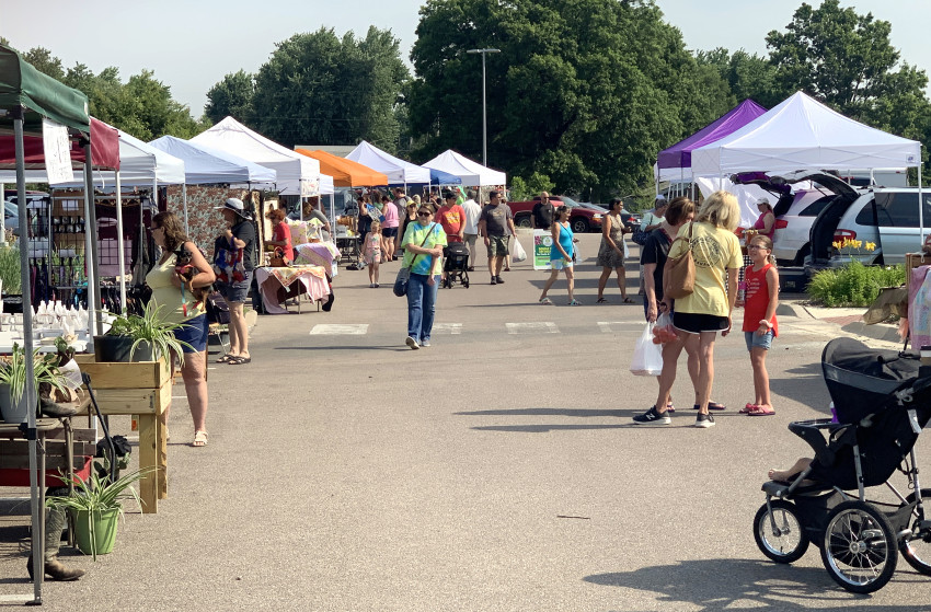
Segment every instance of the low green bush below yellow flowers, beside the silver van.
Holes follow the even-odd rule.
[[[867,307],[883,287],[905,284],[905,267],[864,266],[851,262],[837,269],[821,270],[808,284],[808,295],[826,307]]]

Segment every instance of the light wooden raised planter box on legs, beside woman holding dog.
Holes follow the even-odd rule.
[[[139,469],[158,469],[139,482],[142,512],[157,512],[158,500],[168,497],[164,413],[171,405],[171,368],[164,360],[97,362],[93,355],[76,355],[74,359],[91,377],[101,414],[136,416]]]

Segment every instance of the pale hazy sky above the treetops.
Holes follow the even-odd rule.
[[[610,0],[606,0],[610,1]],[[802,0],[658,0],[666,21],[692,49],[725,47],[766,54],[766,34],[783,30]],[[820,4],[820,0],[809,0]],[[0,35],[21,50],[42,46],[66,67],[119,68],[126,81],[142,69],[171,86],[199,117],[207,90],[225,74],[255,72],[276,42],[333,27],[365,35],[390,28],[405,60],[422,0],[0,0]],[[848,0],[859,13],[893,24],[901,57],[931,74],[929,0]],[[82,36],[82,34],[85,34]],[[476,60],[478,61],[478,60]]]

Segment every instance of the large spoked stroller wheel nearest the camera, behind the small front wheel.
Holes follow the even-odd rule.
[[[882,589],[898,562],[896,536],[886,516],[859,499],[828,515],[821,562],[834,580],[854,593]]]

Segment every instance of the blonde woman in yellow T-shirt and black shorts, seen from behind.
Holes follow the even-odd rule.
[[[696,264],[694,291],[675,301],[669,298],[669,288],[663,292],[660,309],[673,313],[673,325],[679,333],[673,347],[673,359],[666,359],[664,350],[663,373],[659,377],[659,396],[656,404],[645,414],[634,417],[635,423],[670,423],[665,406],[669,403],[669,393],[676,380],[676,362],[682,350],[699,356],[699,372],[696,382],[696,396],[699,399],[699,414],[696,427],[708,428],[714,425],[714,417],[708,412],[711,388],[714,382],[714,340],[717,332],[726,336],[731,332],[731,313],[737,299],[737,273],[744,263],[740,243],[734,234],[740,221],[740,208],[737,198],[727,192],[715,192],[702,204],[693,223],[686,223],[679,230],[679,238],[669,250],[669,259],[664,270],[664,282],[668,284],[669,262],[685,254],[691,247]],[[656,406],[664,406],[659,412]]]

